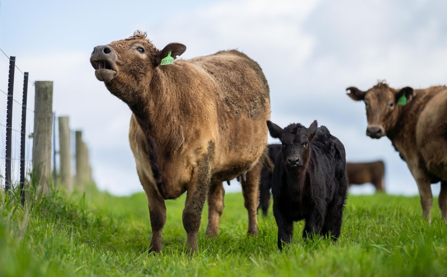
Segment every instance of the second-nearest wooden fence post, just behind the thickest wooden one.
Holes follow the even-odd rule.
[[[59,116],[59,157],[61,183],[68,191],[73,190],[72,155],[70,148],[70,125],[68,116]]]

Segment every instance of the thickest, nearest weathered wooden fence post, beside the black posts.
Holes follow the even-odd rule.
[[[53,82],[36,81],[34,99],[33,169],[41,190],[50,191]]]

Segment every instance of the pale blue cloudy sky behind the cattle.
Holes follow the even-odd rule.
[[[364,104],[352,101],[345,90],[367,90],[378,80],[395,88],[446,84],[447,1],[0,3],[0,48],[17,57],[17,66],[30,72],[31,81],[54,81],[53,109],[57,116],[70,116],[72,130],[83,130],[101,190],[128,195],[142,187],[127,140],[131,112],[95,78],[89,57],[94,46],[140,29],[159,49],[174,41],[185,44],[181,57],[186,59],[219,50],[243,51],[259,63],[269,82],[273,122],[284,127],[292,122],[310,125],[316,119],[343,142],[347,161],[385,161],[388,193],[417,194],[416,182],[391,141],[365,135]],[[22,78],[16,73],[17,95]],[[7,85],[8,59],[0,57],[0,89],[6,91]],[[0,120],[5,124],[6,96],[1,95]],[[34,107],[31,85],[28,106]],[[16,107],[13,126],[20,128]],[[32,132],[31,112],[27,120]],[[238,191],[240,186],[233,180],[225,189]],[[439,184],[432,190],[437,196]],[[374,189],[355,186],[350,192]]]

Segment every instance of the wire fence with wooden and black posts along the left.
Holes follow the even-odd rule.
[[[4,94],[0,98],[0,136],[5,145],[0,157],[0,186],[4,186],[6,193],[12,188],[21,187],[22,203],[24,203],[24,191],[32,178],[37,180],[39,187],[44,192],[50,190],[50,184],[63,184],[67,190],[73,188],[83,189],[86,182],[92,182],[91,166],[89,164],[88,148],[82,140],[82,132],[70,131],[69,118],[59,117],[56,120],[52,110],[53,82],[36,81],[29,79],[28,72],[23,72],[16,65],[16,57],[8,56],[0,51],[8,59],[8,86],[0,87]],[[0,66],[4,63],[0,62]],[[16,74],[16,69],[21,73]],[[2,70],[0,69],[0,73]],[[17,79],[23,77],[21,101],[19,102],[14,91],[21,82]],[[18,83],[18,84],[17,84]],[[1,84],[1,83],[0,83]],[[28,99],[29,84],[35,87],[35,97]],[[0,94],[1,95],[1,94]],[[4,103],[1,99],[6,99]],[[30,101],[31,100],[31,101]],[[34,110],[29,103],[34,102]],[[56,141],[56,121],[59,121],[59,141]],[[19,131],[20,130],[20,131]],[[78,138],[79,136],[79,138]],[[72,155],[73,141],[76,141],[76,156]],[[56,151],[59,145],[59,151]],[[53,146],[53,147],[52,147]],[[57,170],[56,157],[59,154],[59,169]],[[76,161],[72,163],[73,158]],[[51,168],[51,160],[53,168]],[[76,187],[73,185],[72,164],[76,164]],[[2,172],[4,169],[4,172]],[[51,170],[52,169],[52,170]],[[51,180],[51,172],[52,181]]]

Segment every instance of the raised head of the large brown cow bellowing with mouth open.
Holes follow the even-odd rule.
[[[94,47],[90,63],[96,78],[103,81],[112,94],[127,102],[136,93],[147,90],[153,71],[169,51],[171,57],[176,58],[185,50],[186,46],[180,43],[169,43],[158,50],[146,39],[145,33],[137,31],[127,39]]]

